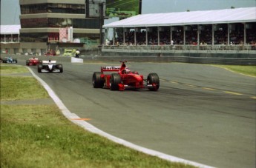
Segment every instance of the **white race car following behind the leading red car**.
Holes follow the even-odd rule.
[[[37,70],[39,73],[63,73],[63,66],[49,59],[38,64]]]

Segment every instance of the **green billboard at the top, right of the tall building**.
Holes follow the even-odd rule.
[[[107,18],[128,18],[141,14],[142,0],[106,0]]]

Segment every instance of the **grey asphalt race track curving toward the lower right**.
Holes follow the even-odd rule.
[[[100,130],[212,167],[255,167],[256,78],[210,65],[128,62],[145,76],[157,73],[160,90],[119,92],[91,85],[100,66],[119,62],[61,63],[64,73],[31,70]]]

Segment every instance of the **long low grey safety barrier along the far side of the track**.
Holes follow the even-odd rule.
[[[198,54],[189,55],[189,54],[177,54],[175,53],[173,56],[148,56],[148,55],[141,55],[138,56],[138,53],[134,53],[134,56],[127,56],[116,54],[113,55],[109,53],[110,56],[81,56],[81,63],[82,61],[90,62],[90,61],[116,61],[119,62],[120,60],[126,59],[128,61],[138,61],[138,62],[183,62],[183,63],[194,63],[194,64],[230,64],[230,65],[256,65],[256,56],[253,55],[251,58],[240,56],[240,58],[232,58],[230,54],[224,54],[223,56],[200,56]],[[248,55],[248,54],[247,54]],[[6,55],[12,56],[13,58],[18,58],[19,63],[27,60],[28,58],[32,58],[32,56],[22,56],[22,55]],[[4,56],[2,56],[4,57]],[[58,62],[72,62],[70,57],[65,56],[35,56],[41,60],[48,60],[51,58],[52,60],[56,60]],[[79,59],[80,59],[79,58]],[[77,59],[77,58],[76,58]]]

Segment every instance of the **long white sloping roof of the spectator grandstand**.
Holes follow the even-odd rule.
[[[227,24],[256,21],[256,7],[226,10],[202,10],[179,13],[152,13],[133,16],[128,19],[105,24],[114,27],[160,27],[191,24]]]

